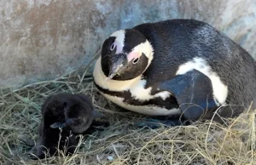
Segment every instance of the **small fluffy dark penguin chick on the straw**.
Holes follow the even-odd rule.
[[[38,158],[58,150],[72,154],[79,144],[77,134],[84,134],[97,114],[90,99],[82,94],[56,94],[49,96],[42,105],[39,139],[30,151]],[[60,137],[61,136],[61,137]],[[36,158],[36,157],[33,157]]]

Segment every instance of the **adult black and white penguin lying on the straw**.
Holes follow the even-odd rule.
[[[130,111],[186,120],[237,117],[256,107],[256,62],[199,20],[165,20],[119,30],[102,44],[96,88]],[[218,108],[218,107],[222,108]],[[218,120],[218,119],[216,119]]]

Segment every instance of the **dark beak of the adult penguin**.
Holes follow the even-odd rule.
[[[115,75],[119,74],[125,68],[125,65],[127,65],[125,54],[113,54],[113,58],[110,59],[108,78],[112,79]]]

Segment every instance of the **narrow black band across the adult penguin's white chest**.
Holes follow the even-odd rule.
[[[125,99],[124,102],[127,103],[128,105],[140,105],[140,106],[143,106],[143,105],[150,106],[151,105],[151,106],[158,106],[161,108],[166,108],[167,110],[172,110],[173,108],[178,108],[177,100],[172,95],[170,95],[168,98],[166,98],[166,100],[163,100],[162,98],[157,97],[152,100],[142,101],[142,100],[134,99],[131,96],[130,91],[114,92],[114,91],[110,91],[105,88],[101,88],[97,84],[96,84],[96,88],[98,88],[103,94],[109,94],[111,96],[117,96],[120,98],[124,98]]]

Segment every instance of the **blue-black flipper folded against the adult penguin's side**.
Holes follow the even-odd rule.
[[[177,75],[172,80],[160,83],[158,88],[175,96],[183,117],[187,120],[198,120],[207,111],[218,107],[213,98],[212,82],[200,71]]]

